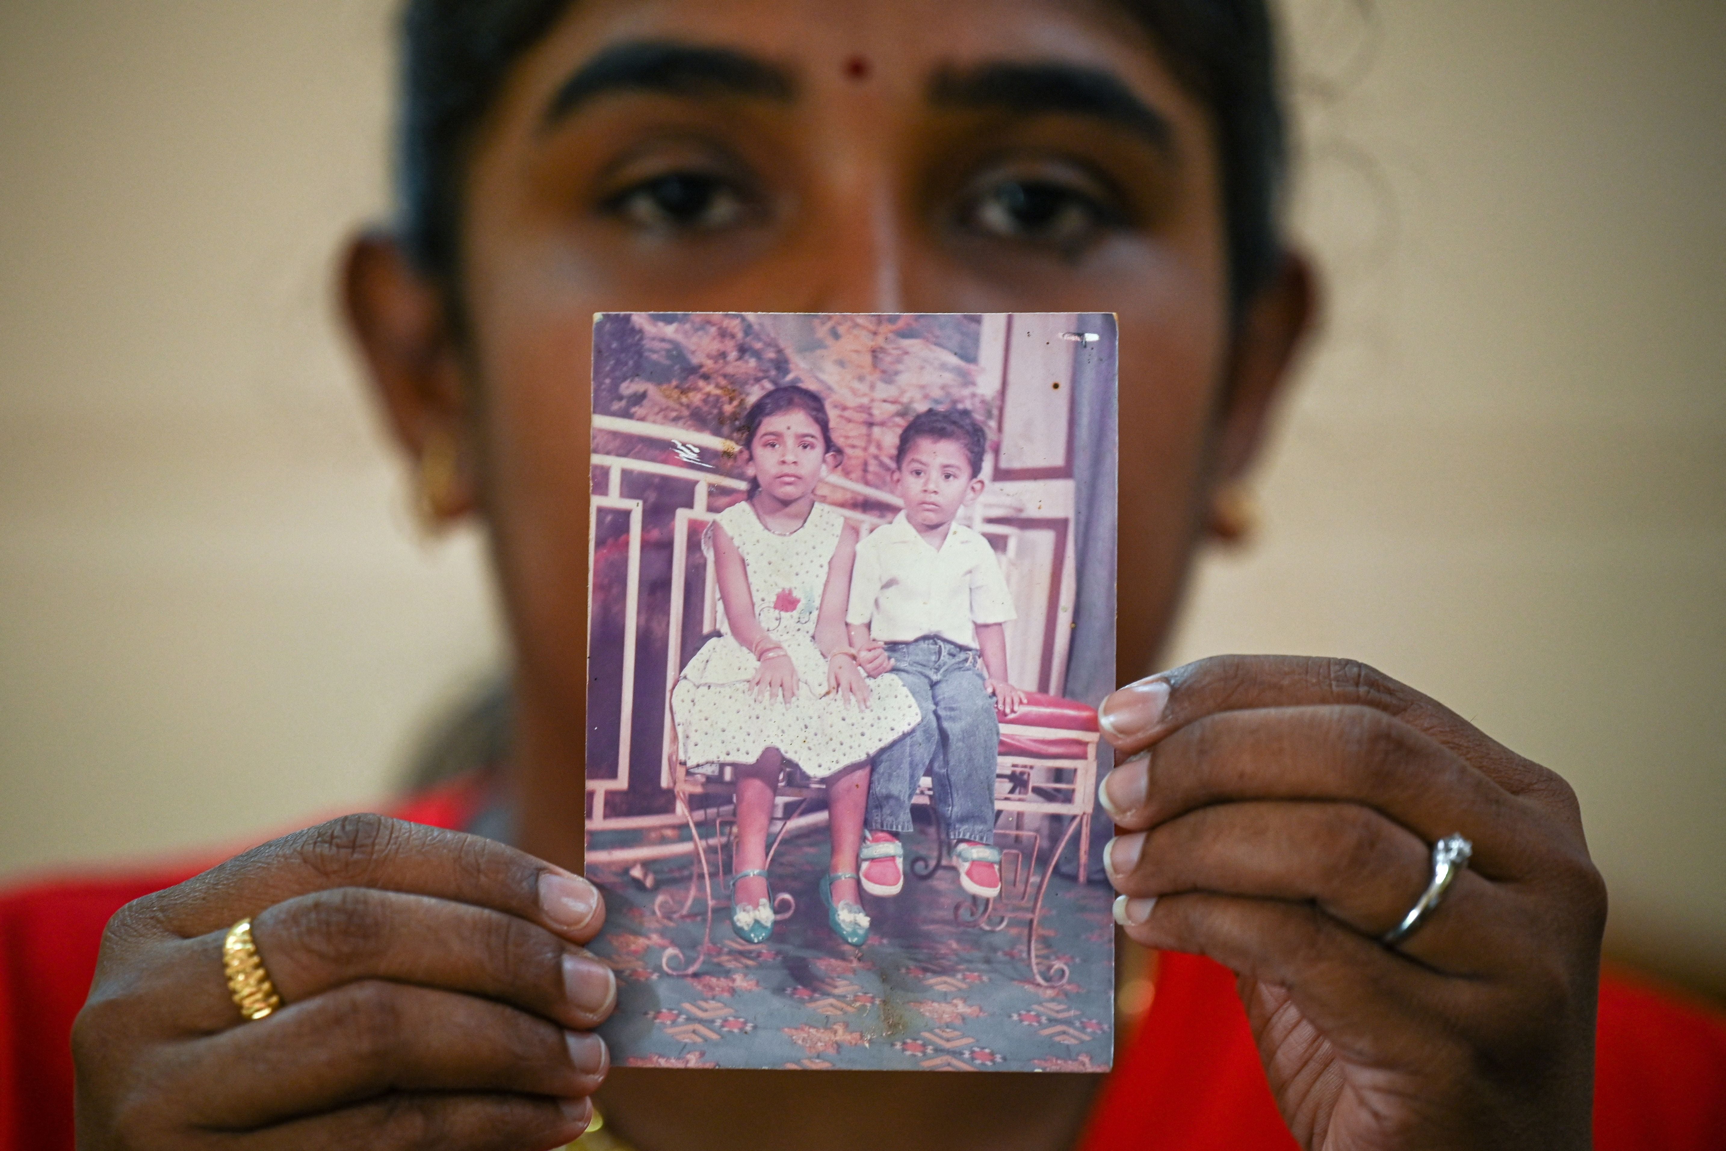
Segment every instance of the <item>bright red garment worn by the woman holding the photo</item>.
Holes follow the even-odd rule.
[[[456,785],[395,815],[464,827],[476,802],[471,785]],[[90,989],[102,927],[124,903],[193,873],[43,882],[0,894],[0,1151],[71,1151],[67,1037]],[[1277,1116],[1225,968],[1162,956],[1151,1011],[1122,1054],[1082,1146],[1296,1146]],[[1726,1151],[1726,1020],[1607,977],[1595,1148]]]

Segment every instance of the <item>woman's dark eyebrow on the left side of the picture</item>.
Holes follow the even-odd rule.
[[[734,48],[675,40],[630,40],[602,50],[564,79],[545,105],[542,123],[551,128],[587,100],[613,91],[728,95],[784,102],[796,95],[796,83],[777,64]]]

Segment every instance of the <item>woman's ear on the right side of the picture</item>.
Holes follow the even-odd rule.
[[[1257,459],[1270,409],[1317,318],[1317,274],[1303,254],[1289,252],[1270,283],[1246,304],[1229,349],[1212,456],[1212,497],[1238,485]]]

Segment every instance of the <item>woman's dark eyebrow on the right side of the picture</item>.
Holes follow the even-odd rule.
[[[1018,116],[1089,116],[1120,124],[1163,152],[1174,152],[1174,128],[1110,71],[1061,60],[987,62],[942,67],[929,81],[939,107],[1001,110]]]

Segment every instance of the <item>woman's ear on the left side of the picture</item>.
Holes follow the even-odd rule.
[[[444,293],[383,233],[356,236],[342,273],[349,331],[413,461],[421,516],[428,526],[459,519],[478,494],[463,357]]]

